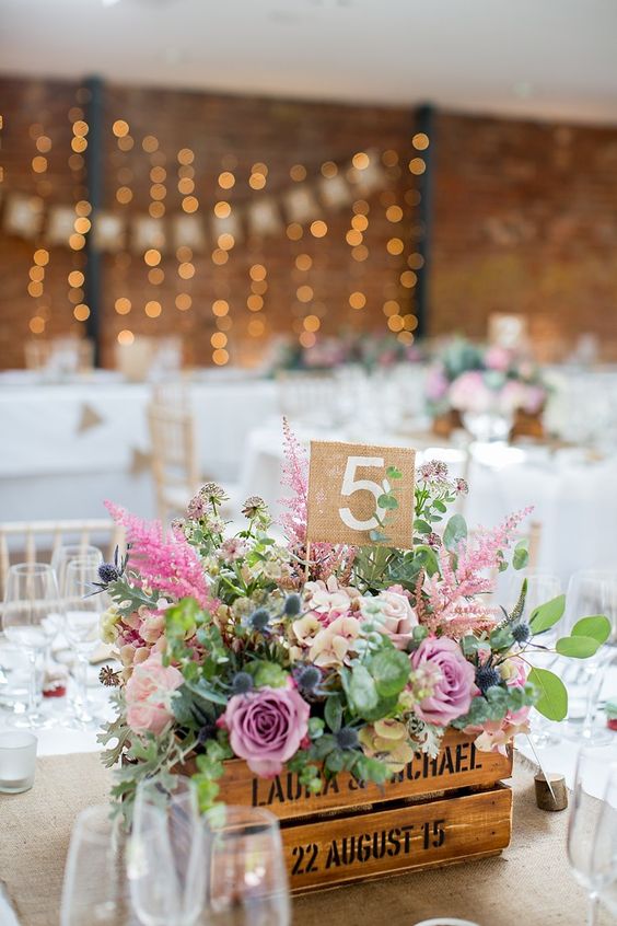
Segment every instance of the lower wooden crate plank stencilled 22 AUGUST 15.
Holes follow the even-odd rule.
[[[291,889],[300,893],[496,855],[511,832],[512,791],[503,786],[281,829]]]

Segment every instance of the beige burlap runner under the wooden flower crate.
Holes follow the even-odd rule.
[[[0,795],[0,879],[21,926],[57,926],[71,827],[80,810],[107,799],[109,780],[95,754],[54,756],[38,761],[31,791]],[[449,915],[479,926],[582,926],[567,823],[568,812],[536,808],[533,774],[517,762],[514,833],[502,856],[307,894],[294,901],[294,924],[414,926]]]

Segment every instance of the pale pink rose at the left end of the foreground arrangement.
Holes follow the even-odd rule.
[[[129,727],[136,733],[160,736],[172,719],[172,692],[183,682],[182,672],[163,665],[160,653],[133,665],[125,688]]]

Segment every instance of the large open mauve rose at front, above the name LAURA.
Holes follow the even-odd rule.
[[[294,687],[265,687],[231,697],[219,725],[226,727],[231,748],[252,772],[273,778],[300,749],[310,714]]]

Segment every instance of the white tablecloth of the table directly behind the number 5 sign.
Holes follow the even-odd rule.
[[[304,444],[316,439],[418,447],[412,438],[384,432],[300,429],[298,437]],[[456,449],[438,445],[422,454],[450,461],[455,475],[462,472],[463,453]],[[464,512],[470,525],[494,526],[513,511],[533,506],[532,518],[542,524],[538,568],[563,582],[577,569],[617,568],[617,456],[592,463],[584,451],[549,453],[499,444],[477,444],[472,454]],[[241,489],[243,495],[260,495],[275,514],[288,494],[281,488],[282,461],[277,428],[251,432]]]

